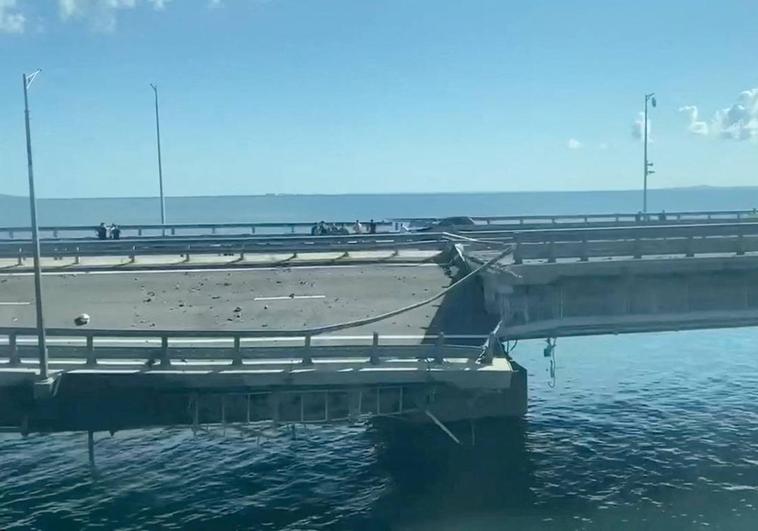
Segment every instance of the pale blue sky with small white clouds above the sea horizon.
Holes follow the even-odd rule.
[[[0,194],[758,184],[753,1],[0,0]],[[697,116],[695,117],[693,110]],[[684,110],[682,110],[684,108]]]

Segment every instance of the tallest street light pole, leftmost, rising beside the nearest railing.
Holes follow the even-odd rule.
[[[47,338],[45,319],[42,312],[42,270],[40,267],[39,230],[37,228],[37,198],[34,194],[34,169],[32,167],[32,134],[29,127],[29,87],[39,70],[30,75],[23,74],[24,118],[26,121],[26,159],[29,168],[29,210],[32,218],[32,249],[34,252],[34,296],[37,309],[37,349],[39,350],[39,377],[47,380]]]

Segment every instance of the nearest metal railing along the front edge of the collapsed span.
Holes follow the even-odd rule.
[[[36,363],[36,328],[0,328],[0,353],[5,351],[6,366]],[[102,330],[50,328],[46,335],[56,338],[48,346],[51,363],[56,360],[79,361],[95,367],[107,360],[143,360],[149,366],[171,367],[172,361],[216,360],[241,366],[245,360],[297,360],[310,365],[314,359],[364,359],[377,364],[386,359],[476,359],[480,347],[450,344],[444,334],[428,336],[432,343],[398,343],[393,337],[374,333],[370,343],[316,345],[318,335],[302,331],[228,331],[228,330]],[[328,337],[328,336],[327,336]],[[291,339],[294,345],[271,346],[260,340]],[[64,344],[60,344],[60,340]],[[125,340],[133,340],[123,346]],[[259,340],[259,341],[246,341]],[[0,354],[1,355],[1,354]],[[2,364],[0,364],[2,367]]]

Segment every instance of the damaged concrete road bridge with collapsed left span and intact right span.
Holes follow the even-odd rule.
[[[511,340],[758,325],[758,222],[668,221],[242,238],[245,253],[332,256],[308,267],[239,256],[230,267],[228,255],[243,252],[236,236],[198,238],[202,269],[46,262],[44,369],[28,264],[11,263],[0,272],[0,425],[92,432],[381,416],[448,432],[451,422],[523,415],[526,375]],[[153,249],[188,253],[177,237],[140,241],[144,260]],[[47,243],[64,250],[58,258],[71,249]],[[370,251],[389,255],[334,258]],[[79,312],[92,322],[72,327]]]

